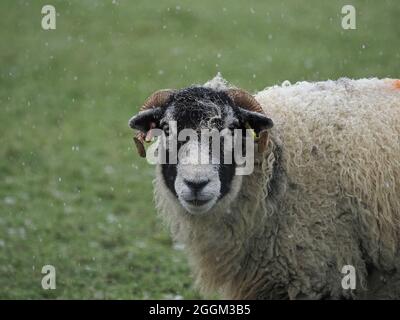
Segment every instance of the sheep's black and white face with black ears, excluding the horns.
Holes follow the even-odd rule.
[[[205,87],[179,90],[165,106],[139,113],[130,120],[133,128],[146,133],[149,128],[155,127],[163,130],[165,136],[175,134],[171,132],[171,123],[176,124],[178,135],[191,129],[197,136],[197,139],[189,136],[187,139],[178,139],[177,157],[171,157],[172,153],[166,152],[165,161],[161,164],[165,186],[192,214],[208,212],[228,194],[232,195],[240,189],[241,176],[235,175],[235,157],[228,160],[229,156],[223,151],[226,135],[233,137],[235,129],[242,129],[236,131],[242,135],[236,135],[235,139],[244,139],[249,123],[257,131],[272,126],[269,118],[236,106],[223,91]],[[204,130],[220,133],[219,159],[213,159],[212,139],[202,139]],[[233,141],[232,145],[235,145]],[[244,147],[240,152],[245,152]],[[172,161],[172,158],[175,160]],[[207,161],[204,162],[204,159]]]

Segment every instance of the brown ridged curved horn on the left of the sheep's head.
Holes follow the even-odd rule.
[[[152,108],[162,107],[175,92],[172,89],[162,89],[154,92],[150,97],[146,99],[143,106],[139,109],[139,112],[145,111]],[[152,125],[150,127],[153,127]],[[133,137],[136,149],[141,157],[146,157],[146,149],[144,148],[144,142],[150,140],[151,137],[147,137],[146,133],[139,131],[136,136]]]

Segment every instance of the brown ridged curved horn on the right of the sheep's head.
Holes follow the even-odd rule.
[[[228,89],[226,93],[237,106],[249,111],[258,112],[265,115],[265,112],[261,105],[247,91],[242,89]],[[263,130],[258,134],[258,137],[255,139],[258,145],[258,151],[260,153],[263,153],[267,149],[268,138],[268,130]]]

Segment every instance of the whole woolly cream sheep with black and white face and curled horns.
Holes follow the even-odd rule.
[[[156,165],[157,211],[184,244],[200,291],[227,299],[400,298],[400,80],[285,82],[255,100],[232,90],[217,76],[163,91],[146,102],[151,111],[130,120],[140,146],[166,118],[196,126],[217,106],[221,129],[243,126],[254,113],[246,108],[262,108],[252,127],[267,143],[255,143],[252,174]],[[185,204],[182,190],[194,192],[186,179],[212,205]],[[342,283],[348,265],[355,289]]]

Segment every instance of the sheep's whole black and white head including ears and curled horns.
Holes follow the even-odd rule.
[[[174,128],[171,124],[175,124]],[[158,129],[162,133],[160,137],[164,143],[158,143],[156,150],[158,154],[161,149],[166,151],[160,164],[165,186],[188,212],[196,214],[209,211],[219,200],[240,188],[241,177],[235,174],[237,161],[232,154],[227,155],[227,151],[232,150],[224,145],[228,137],[232,147],[241,140],[243,155],[246,151],[242,142],[249,138],[246,129],[250,128],[255,136],[251,137],[252,144],[256,142],[256,151],[263,152],[272,121],[258,102],[243,90],[196,86],[155,92],[130,119],[129,125],[139,130],[134,139],[141,156],[145,156],[143,143],[149,140],[151,132]],[[203,139],[202,134],[207,130],[211,137],[213,133],[220,134],[218,159],[213,153],[215,140]],[[194,136],[186,131],[193,132]],[[172,135],[179,137],[176,150],[171,152],[174,144],[165,141]]]

